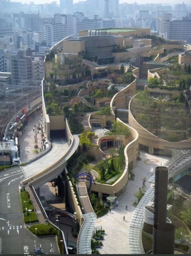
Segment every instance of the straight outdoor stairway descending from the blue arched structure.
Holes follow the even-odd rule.
[[[94,213],[94,210],[89,200],[89,196],[87,194],[85,180],[78,180],[77,190],[80,202],[82,204],[82,207],[84,208],[84,213]]]

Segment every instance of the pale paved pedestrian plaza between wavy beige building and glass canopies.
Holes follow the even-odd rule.
[[[148,190],[151,183],[147,181],[154,174],[155,167],[164,165],[168,161],[166,157],[158,157],[145,152],[141,152],[140,157],[141,160],[133,170],[135,179],[128,181],[126,192],[118,197],[118,207],[96,221],[95,227],[102,226],[106,232],[103,240],[104,246],[98,248],[100,254],[131,254],[128,245],[128,229],[136,209],[132,205],[135,202],[134,193],[142,187],[144,177],[146,177],[146,190]],[[125,221],[123,221],[123,216],[125,216]]]

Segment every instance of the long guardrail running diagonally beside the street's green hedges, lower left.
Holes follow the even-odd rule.
[[[53,227],[55,227],[55,228],[59,231],[59,233],[61,234],[61,238],[62,238],[62,240],[63,240],[63,251],[64,251],[64,254],[68,254],[68,249],[67,249],[67,245],[66,245],[66,242],[65,242],[65,237],[64,237],[63,231],[62,231],[58,226],[56,226],[55,224],[53,224],[52,221],[49,220],[49,218],[48,218],[48,216],[47,216],[47,214],[46,214],[46,212],[45,212],[45,210],[44,210],[44,208],[43,208],[43,206],[42,206],[42,203],[41,203],[41,201],[39,200],[39,198],[38,198],[38,196],[37,196],[37,194],[36,194],[36,192],[35,192],[35,189],[34,189],[33,186],[31,185],[31,183],[29,183],[29,187],[30,187],[30,189],[31,189],[31,191],[32,191],[32,194],[34,195],[34,198],[36,199],[36,202],[37,202],[38,205],[39,205],[39,208],[40,208],[40,210],[41,210],[41,212],[42,212],[42,215],[43,215],[44,220],[46,221],[46,223],[49,223],[49,224],[53,225]]]

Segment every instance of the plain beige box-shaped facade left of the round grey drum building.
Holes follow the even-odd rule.
[[[63,41],[63,52],[64,53],[79,53],[85,52],[85,41],[69,40]]]

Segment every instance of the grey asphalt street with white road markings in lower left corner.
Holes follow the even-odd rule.
[[[42,247],[44,254],[58,254],[55,236],[37,238],[25,228],[19,183],[20,167],[0,172],[0,254],[30,254]]]

